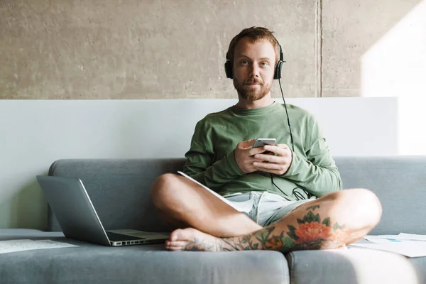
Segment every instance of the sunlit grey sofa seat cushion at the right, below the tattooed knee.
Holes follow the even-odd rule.
[[[292,284],[426,283],[426,257],[348,246],[286,255]]]

